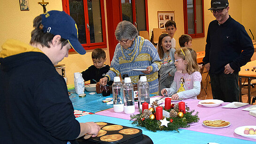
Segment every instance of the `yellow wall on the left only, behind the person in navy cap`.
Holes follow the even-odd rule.
[[[38,4],[41,0],[29,0],[29,11],[21,11],[19,0],[2,0],[0,5],[0,45],[7,39],[14,38],[22,42],[29,43],[31,31],[33,30],[33,19],[43,13],[43,7]],[[47,11],[62,10],[62,0],[45,0],[49,2],[46,6]],[[105,8],[106,9],[106,8]],[[106,11],[105,11],[106,17]],[[106,23],[107,25],[107,23]],[[107,56],[106,64],[109,62],[109,50],[104,48]],[[86,51],[85,55],[69,54],[58,64],[66,65],[66,76],[68,84],[74,83],[74,72],[82,72],[93,65],[91,53]]]

